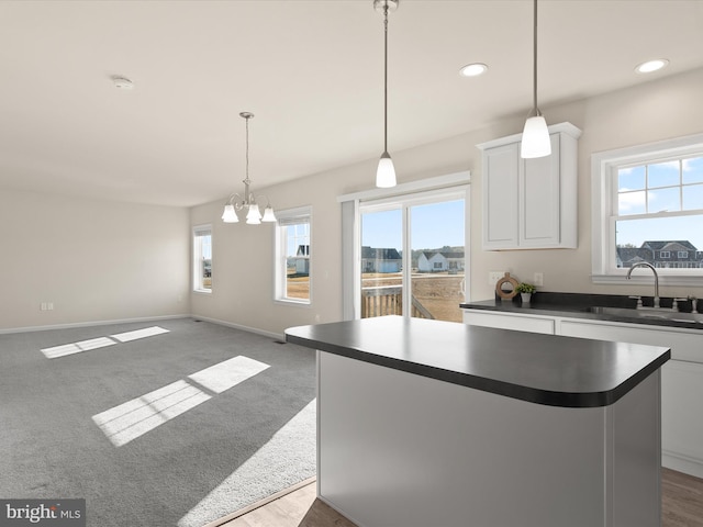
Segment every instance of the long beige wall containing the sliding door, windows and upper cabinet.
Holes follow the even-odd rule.
[[[633,74],[635,75],[635,74]],[[701,133],[703,70],[553,108],[549,124],[569,121],[583,131],[579,142],[579,247],[560,250],[483,251],[481,249],[481,153],[475,145],[522,131],[524,116],[404,152],[392,152],[400,182],[471,171],[471,291],[473,300],[493,296],[490,271],[528,279],[544,273],[545,291],[647,294],[650,288],[594,285],[591,274],[591,154]],[[438,101],[440,103],[440,101]],[[344,148],[344,145],[339,145]],[[272,301],[271,225],[224,225],[220,202],[193,208],[191,225],[213,224],[213,293],[192,294],[198,316],[280,334],[286,327],[342,318],[341,194],[373,187],[376,159],[267,189],[277,210],[312,205],[313,302],[310,307]],[[256,176],[254,176],[256,183]],[[237,189],[233,189],[237,190]],[[703,291],[665,288],[662,295],[703,296]]]

